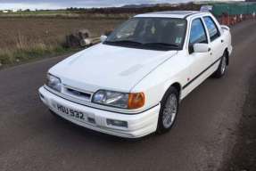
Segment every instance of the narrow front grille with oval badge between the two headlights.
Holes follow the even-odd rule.
[[[71,97],[87,102],[91,101],[92,97],[91,93],[80,91],[78,89],[66,85],[64,86],[63,94],[67,94]]]

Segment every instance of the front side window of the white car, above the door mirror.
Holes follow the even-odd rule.
[[[196,43],[208,43],[205,29],[202,25],[201,19],[195,19],[192,21],[189,45],[194,45]]]

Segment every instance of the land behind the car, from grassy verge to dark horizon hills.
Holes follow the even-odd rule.
[[[77,48],[67,48],[65,39],[80,29],[86,28],[91,37],[99,37],[136,13],[199,8],[199,4],[158,4],[143,8],[0,12],[0,67],[76,51]]]

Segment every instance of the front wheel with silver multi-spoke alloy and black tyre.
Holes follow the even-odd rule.
[[[178,90],[171,86],[161,100],[161,110],[158,118],[157,133],[168,132],[174,125],[179,106]]]

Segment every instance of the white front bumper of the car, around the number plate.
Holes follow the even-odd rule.
[[[44,102],[50,110],[53,110],[54,113],[60,117],[65,118],[70,122],[77,124],[78,126],[84,126],[98,132],[126,138],[138,138],[155,132],[157,128],[160,104],[139,114],[121,114],[87,107],[75,102],[70,102],[63,99],[62,97],[52,94],[46,90],[44,86],[39,88],[39,94],[41,101]],[[62,114],[62,112],[54,107],[56,103],[61,104],[69,109],[79,110],[85,113],[87,116],[86,118],[93,118],[95,123],[90,123],[87,119],[85,121],[81,121]],[[111,126],[107,124],[107,119],[126,121],[128,126]]]

